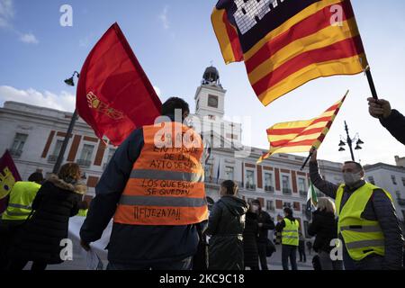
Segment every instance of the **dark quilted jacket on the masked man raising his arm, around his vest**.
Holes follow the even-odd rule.
[[[320,176],[317,162],[310,162],[310,176],[311,182],[315,187],[330,198],[336,199],[339,185],[323,180],[323,178]],[[356,191],[356,189],[360,188],[363,184],[365,184],[365,181],[359,182],[354,188],[350,188],[348,186],[345,187],[340,210],[345,206],[347,200]],[[398,220],[392,201],[381,189],[374,190],[373,196],[365,205],[365,211],[363,212],[362,217],[365,220],[377,220],[381,229],[383,229],[385,238],[385,256],[383,257],[383,267],[386,269],[400,268],[402,265],[401,253],[404,242],[401,224]],[[343,240],[341,235],[339,235],[339,238]],[[346,249],[346,246],[344,245],[343,248]],[[366,262],[367,257],[360,262],[362,261]]]

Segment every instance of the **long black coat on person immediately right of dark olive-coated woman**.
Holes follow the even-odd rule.
[[[247,211],[246,226],[243,231],[243,253],[246,267],[258,267],[257,213]]]

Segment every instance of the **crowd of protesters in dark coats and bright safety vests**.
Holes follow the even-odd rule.
[[[368,101],[370,114],[405,144],[405,117],[385,100]],[[180,121],[190,112],[183,99],[170,98],[162,106],[162,115],[166,116],[162,125],[171,123],[180,130],[189,129],[175,119],[175,110],[182,112]],[[392,196],[366,183],[359,163],[344,163],[344,183],[333,184],[320,175],[317,151],[312,149],[311,182],[329,197],[320,198],[312,213],[307,231],[315,237],[312,245],[311,241],[305,243],[303,229],[291,208],[284,208],[284,217],[279,217],[275,225],[261,202],[246,202],[239,197],[238,185],[231,180],[220,184],[220,199],[209,212],[201,145],[174,149],[170,156],[191,161],[192,166],[183,166],[181,171],[153,170],[155,159],[166,158],[154,146],[155,132],[153,125],[139,128],[121,144],[95,188],[90,207],[83,201],[86,187],[75,163],[65,164],[58,175],[47,179],[37,172],[28,181],[14,184],[0,225],[0,269],[22,270],[31,261],[31,270],[44,270],[62,263],[60,241],[67,238],[69,218],[75,215],[85,217],[80,237],[86,251],[102,237],[113,217],[107,269],[267,270],[268,257],[276,250],[269,230],[275,230],[275,242],[277,238],[281,242],[284,270],[298,269],[297,255],[299,262],[307,262],[306,244],[311,245],[309,256],[311,248],[317,253],[312,260],[315,270],[403,266],[404,239]],[[202,143],[200,135],[192,136]],[[188,193],[184,197],[146,196],[144,183],[150,179],[165,185],[181,180],[189,184]],[[152,184],[150,188],[156,187]],[[167,208],[180,203],[185,210]],[[158,210],[160,220],[153,216],[157,211],[147,213],[148,206]],[[182,221],[176,224],[180,214]],[[342,250],[343,258],[333,257],[336,247]]]

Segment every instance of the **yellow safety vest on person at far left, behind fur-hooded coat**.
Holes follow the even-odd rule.
[[[18,181],[10,192],[7,209],[2,215],[3,220],[26,220],[31,214],[31,204],[40,190],[40,184]]]

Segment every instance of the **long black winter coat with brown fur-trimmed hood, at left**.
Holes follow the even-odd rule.
[[[67,238],[69,218],[79,210],[78,203],[85,194],[83,184],[68,184],[57,175],[40,187],[32,202],[32,216],[14,240],[12,257],[47,264],[63,262],[61,240]]]

